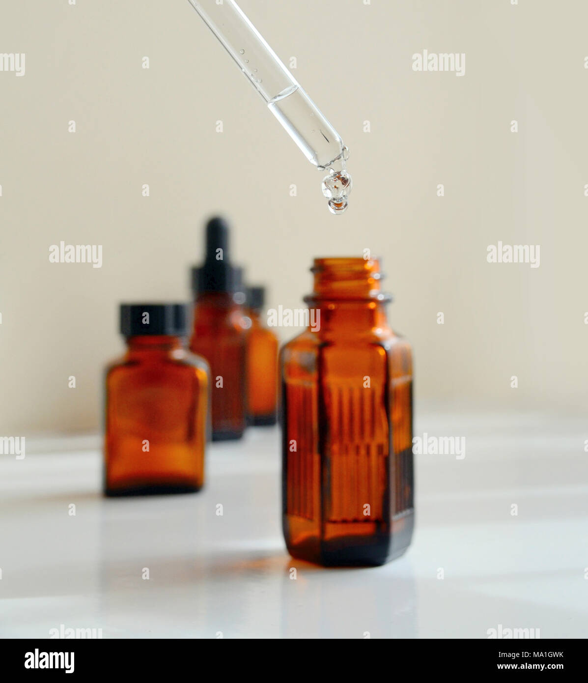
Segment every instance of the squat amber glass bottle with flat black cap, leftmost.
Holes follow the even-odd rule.
[[[122,305],[128,349],[107,368],[104,493],[197,491],[204,484],[208,365],[184,348],[182,304]]]

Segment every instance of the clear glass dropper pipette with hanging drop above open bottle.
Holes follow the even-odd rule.
[[[320,109],[300,87],[234,0],[188,0],[264,98],[298,148],[320,171],[328,208],[339,214],[348,206],[351,177],[345,162],[349,150]]]

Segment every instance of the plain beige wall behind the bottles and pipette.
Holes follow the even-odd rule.
[[[419,399],[585,410],[588,4],[241,5],[351,150],[344,216],[186,0],[0,0],[0,53],[26,54],[0,72],[0,431],[99,425],[117,303],[185,298],[213,212],[270,306],[300,305],[313,256],[382,255]],[[414,72],[423,49],[465,76]],[[50,264],[60,240],[102,268]],[[498,240],[540,268],[488,264]]]

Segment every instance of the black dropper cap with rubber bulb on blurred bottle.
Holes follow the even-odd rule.
[[[214,217],[206,223],[206,257],[204,264],[192,268],[192,291],[242,291],[242,268],[229,261],[229,226],[225,219]]]

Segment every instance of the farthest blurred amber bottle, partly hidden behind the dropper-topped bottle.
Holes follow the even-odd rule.
[[[275,425],[278,400],[278,338],[264,326],[263,287],[248,287],[245,313],[251,320],[247,335],[247,410],[254,426]]]

